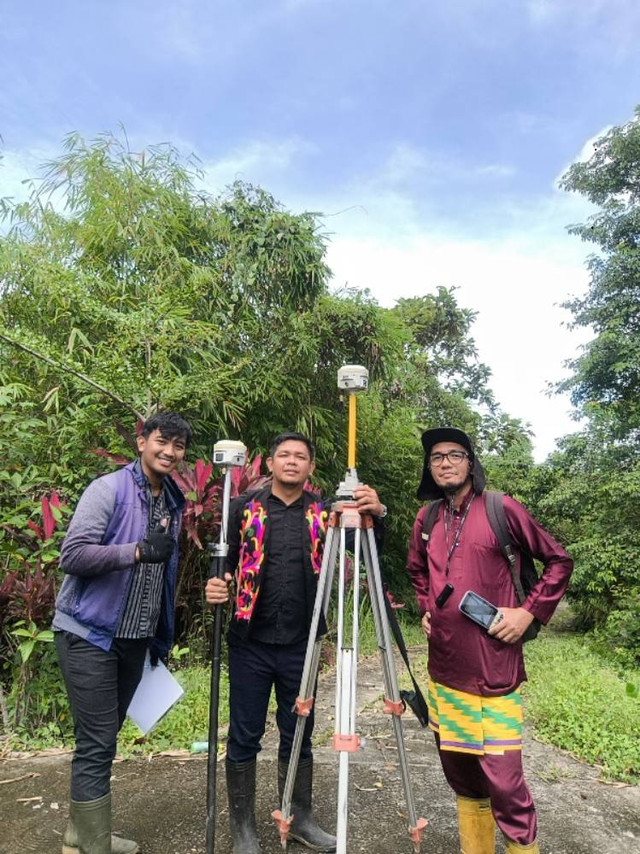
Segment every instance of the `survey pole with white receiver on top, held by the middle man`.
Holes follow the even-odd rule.
[[[247,459],[247,449],[242,442],[222,440],[213,446],[213,462],[222,466],[224,483],[222,487],[222,514],[220,519],[220,538],[211,543],[210,577],[224,577],[229,544],[227,528],[229,525],[229,503],[231,499],[231,469],[243,466]],[[222,649],[223,606],[213,609],[213,627],[211,631],[211,698],[209,700],[209,755],[207,761],[207,819],[206,852],[213,854],[216,839],[216,781],[218,769],[218,717],[220,705],[220,659]]]

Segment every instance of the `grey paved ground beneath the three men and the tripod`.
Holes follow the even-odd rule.
[[[315,809],[335,827],[338,764],[330,747],[333,687],[318,690],[315,732]],[[349,854],[410,854],[405,795],[389,718],[381,713],[379,661],[359,663],[358,729],[363,749],[349,773]],[[418,815],[428,820],[421,851],[458,854],[454,797],[433,737],[410,713],[403,717]],[[264,854],[282,847],[270,818],[277,803],[277,738],[265,737],[259,756],[257,819]],[[640,854],[640,787],[606,785],[597,769],[535,741],[525,742],[527,779],[538,807],[544,854]],[[0,761],[0,854],[55,854],[68,815],[70,755]],[[188,753],[117,762],[113,769],[113,829],[140,844],[141,854],[204,854],[207,762]],[[216,854],[231,854],[224,768],[219,765]],[[291,843],[291,852],[304,851]],[[501,839],[497,851],[503,852]]]

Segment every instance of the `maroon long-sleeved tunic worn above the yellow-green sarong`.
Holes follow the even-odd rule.
[[[431,677],[459,691],[500,696],[513,691],[527,678],[522,643],[507,644],[490,637],[458,610],[467,590],[479,593],[498,607],[519,606],[509,565],[491,530],[484,504],[484,495],[474,498],[451,555],[448,577],[445,574],[448,547],[444,505],[428,548],[422,539],[422,517],[426,507],[421,508],[411,534],[407,568],[420,613],[431,613]],[[521,504],[505,496],[504,509],[514,543],[521,544],[544,565],[540,580],[523,607],[546,623],[567,589],[573,561]],[[452,541],[450,532],[449,545]],[[453,585],[454,591],[444,606],[438,608],[435,600],[447,582]]]

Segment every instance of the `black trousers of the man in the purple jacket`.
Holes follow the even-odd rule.
[[[149,639],[116,638],[109,652],[70,632],[55,632],[55,641],[76,740],[71,799],[93,801],[110,790],[118,733],[142,677]]]

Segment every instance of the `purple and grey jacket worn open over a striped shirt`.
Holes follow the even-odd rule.
[[[176,546],[165,567],[162,610],[150,646],[159,656],[168,653],[173,640],[177,540],[185,503],[171,478],[166,478],[164,489]],[[56,600],[54,629],[110,649],[135,572],[136,546],[146,535],[148,510],[138,461],[89,484],[62,543],[60,566],[66,575]]]

